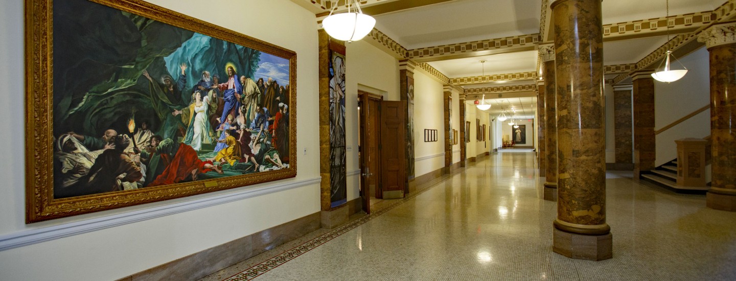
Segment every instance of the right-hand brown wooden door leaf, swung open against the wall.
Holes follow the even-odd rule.
[[[406,185],[406,121],[404,102],[382,101],[381,191],[383,199],[403,198]]]

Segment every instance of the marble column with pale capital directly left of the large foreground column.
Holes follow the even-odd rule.
[[[542,80],[545,81],[545,171],[544,199],[557,201],[557,89],[554,44],[540,45]]]

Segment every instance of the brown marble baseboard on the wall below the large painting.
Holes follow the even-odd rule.
[[[250,257],[266,252],[309,232],[318,230],[320,214],[313,213],[294,221],[255,232],[242,238],[214,246],[169,263],[121,278],[124,281],[139,280],[198,280],[222,268],[227,268]],[[118,281],[120,281],[118,280]]]

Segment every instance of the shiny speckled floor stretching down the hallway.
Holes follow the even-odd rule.
[[[469,164],[203,280],[736,280],[736,213],[703,195],[611,172],[613,258],[573,260],[552,252],[556,202],[542,199],[534,152]]]

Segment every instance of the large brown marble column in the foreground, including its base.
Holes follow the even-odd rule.
[[[601,1],[557,0],[557,218],[553,251],[575,259],[612,257],[606,224],[606,149]]]

